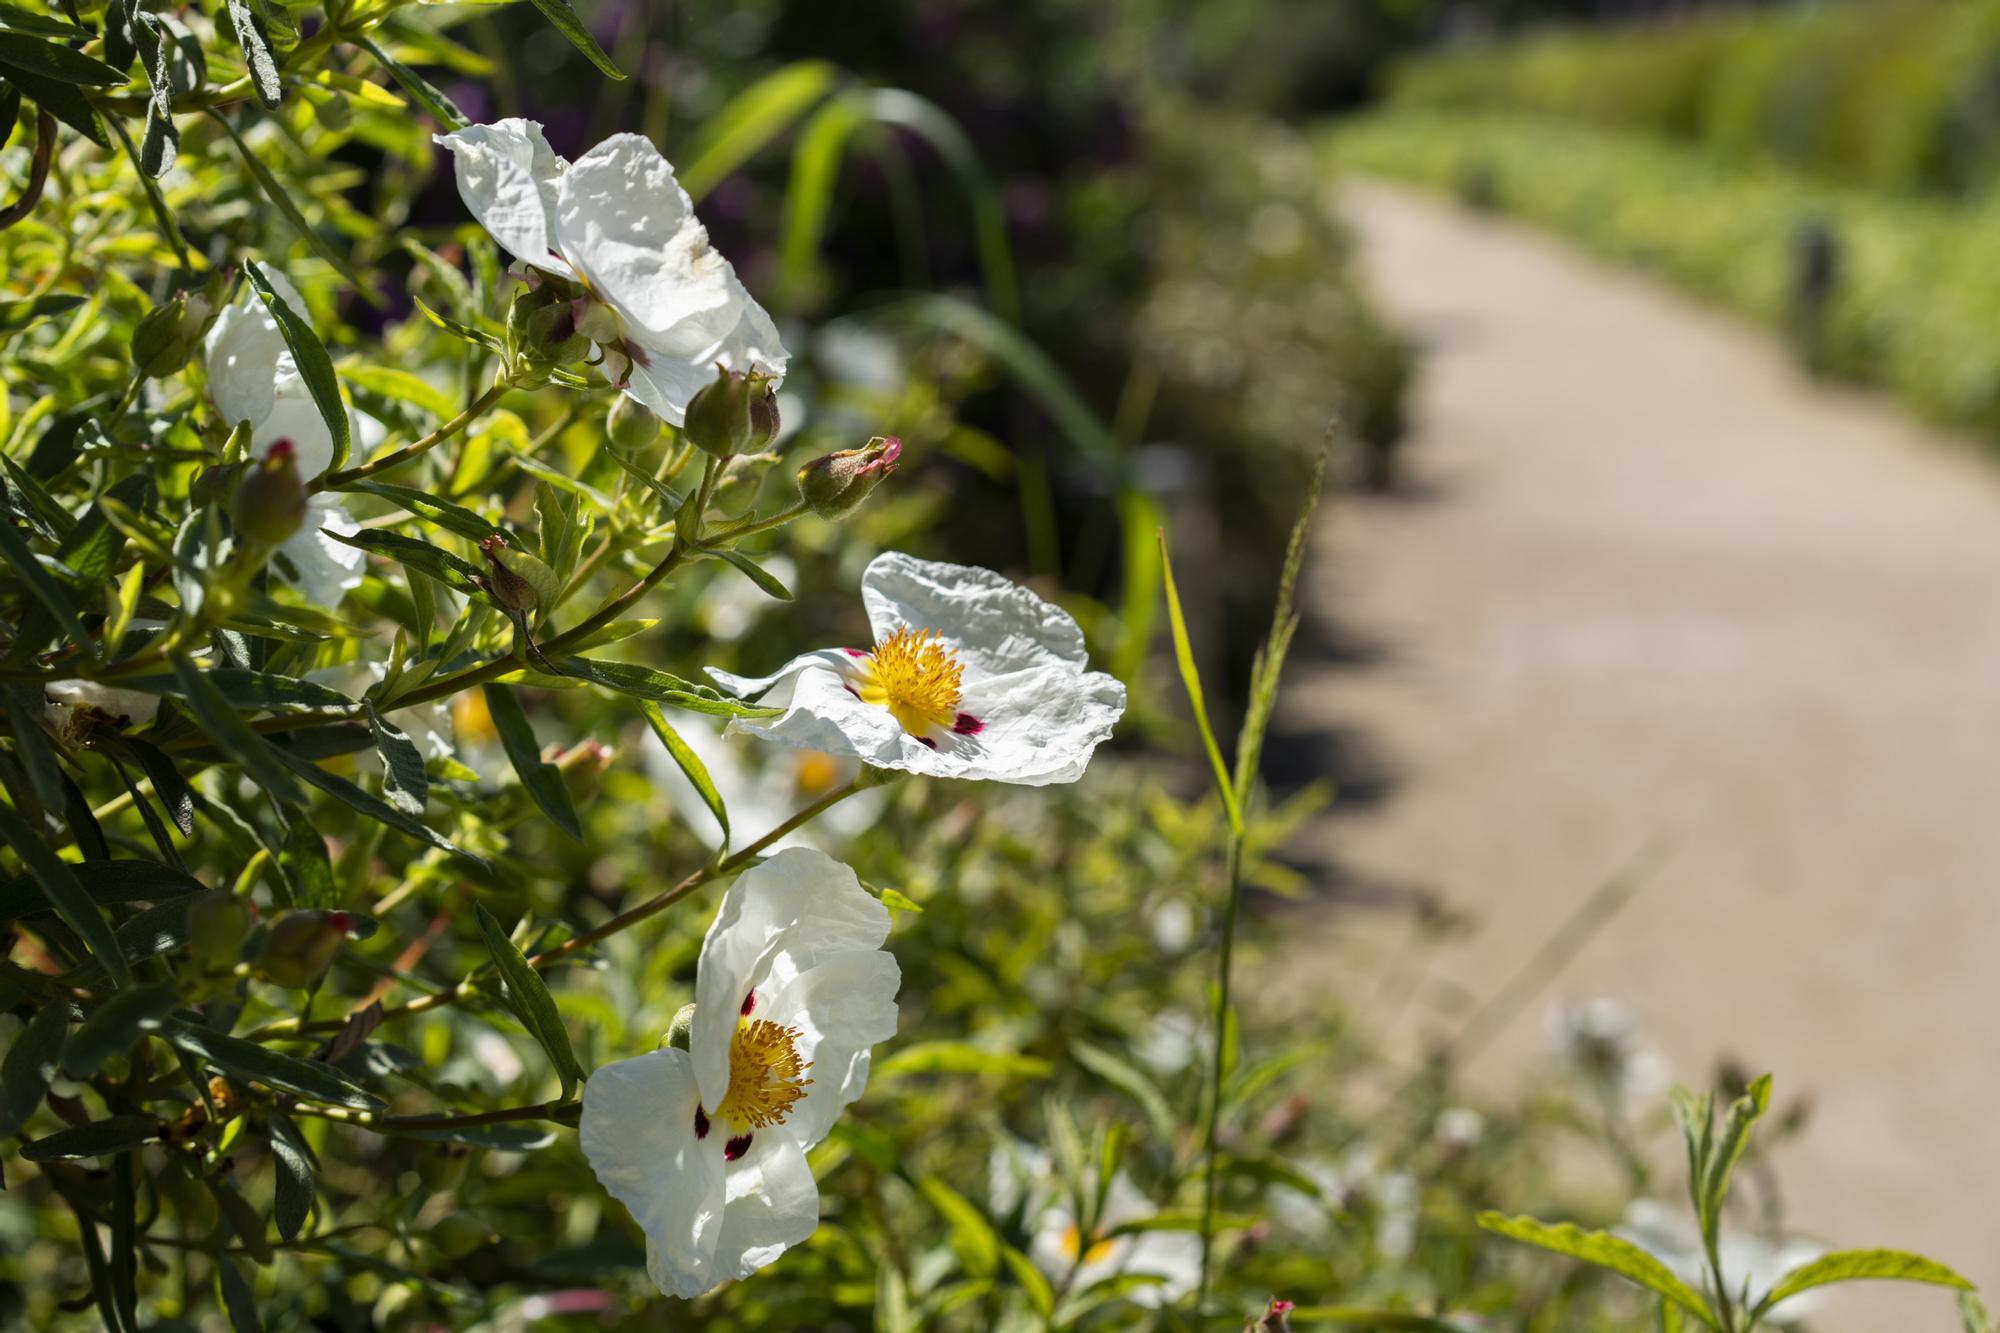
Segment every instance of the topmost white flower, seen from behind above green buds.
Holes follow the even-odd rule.
[[[652,140],[614,134],[564,162],[534,120],[498,120],[436,142],[502,248],[586,288],[576,328],[604,346],[606,374],[632,398],[678,426],[716,366],[784,376],[778,328],[708,244]]]

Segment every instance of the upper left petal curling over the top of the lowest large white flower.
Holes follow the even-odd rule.
[[[730,1039],[752,991],[776,997],[822,959],[880,949],[888,909],[854,871],[806,847],[782,851],[736,877],[702,939],[688,1049],[710,1109],[730,1087]]]

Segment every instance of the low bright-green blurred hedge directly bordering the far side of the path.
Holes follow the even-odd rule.
[[[1812,362],[2000,436],[2000,218],[1830,186],[1700,148],[1534,116],[1386,112],[1338,128],[1342,166],[1458,190],[1798,332],[1802,234],[1836,252]]]

